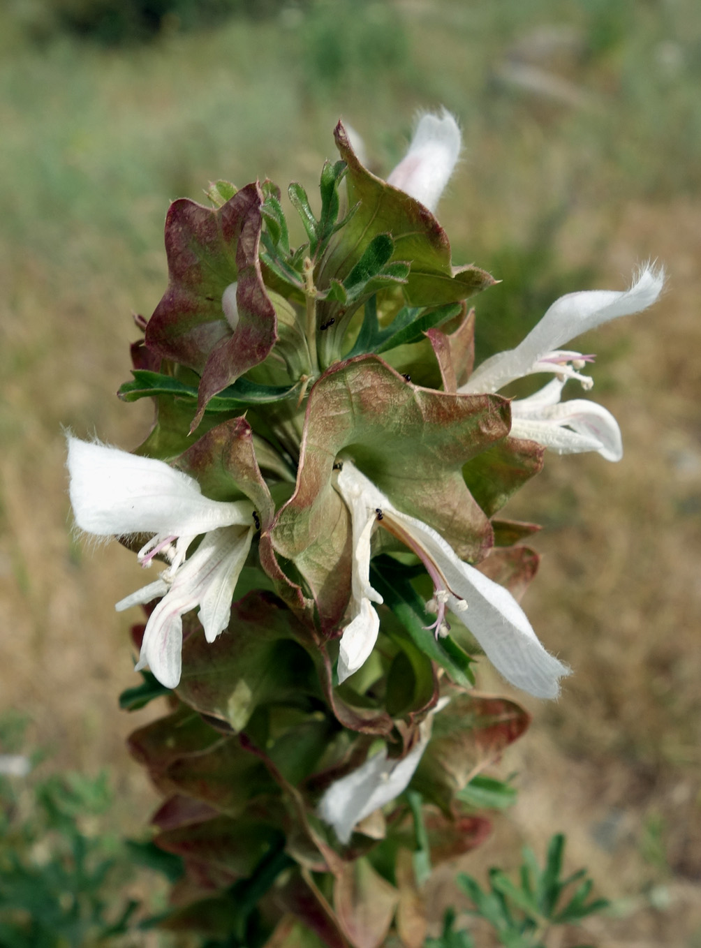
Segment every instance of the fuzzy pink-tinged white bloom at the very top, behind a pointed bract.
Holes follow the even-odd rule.
[[[435,210],[460,155],[460,129],[451,113],[421,118],[409,151],[387,178],[429,210]]]

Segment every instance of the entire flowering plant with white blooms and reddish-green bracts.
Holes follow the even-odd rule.
[[[489,831],[470,788],[529,720],[472,689],[475,655],[540,698],[569,670],[517,601],[537,527],[500,511],[545,448],[618,460],[613,416],[561,400],[592,384],[562,346],[653,303],[662,274],[563,297],[474,369],[466,301],[494,281],[452,264],[434,216],[455,120],[422,118],[386,181],[335,137],[318,215],[288,190],[302,246],[269,181],[171,205],[168,288],[120,389],[153,399],[153,428],[131,454],[69,437],[70,496],[82,530],[163,565],[117,604],[147,613],[125,704],[170,702],[130,738],[165,796],[157,846],[183,859],[162,923],[415,948],[421,885]]]

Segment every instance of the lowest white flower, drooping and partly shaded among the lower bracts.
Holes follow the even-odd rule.
[[[353,828],[370,813],[403,793],[414,776],[421,755],[431,739],[433,715],[445,707],[449,699],[441,698],[418,726],[418,740],[406,757],[387,757],[386,745],[366,760],[358,770],[336,780],[323,793],[317,811],[329,823],[341,843],[347,843]]]

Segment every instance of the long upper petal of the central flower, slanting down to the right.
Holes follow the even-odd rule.
[[[449,599],[449,608],[470,629],[497,671],[537,698],[556,698],[558,679],[569,669],[545,651],[511,593],[464,563],[426,523],[406,514],[394,516],[433,559],[452,593],[468,603],[467,611],[458,611]]]

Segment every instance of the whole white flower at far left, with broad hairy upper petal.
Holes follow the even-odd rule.
[[[194,478],[154,458],[68,438],[70,500],[76,523],[99,537],[153,534],[138,559],[161,553],[170,566],[122,599],[118,610],[162,596],[146,625],[137,669],[150,665],[161,684],[180,681],[182,616],[199,606],[208,642],[226,629],[231,596],[249,553],[253,506],[212,501]],[[195,537],[204,534],[185,559]]]

